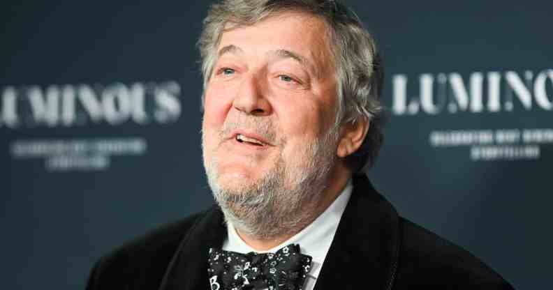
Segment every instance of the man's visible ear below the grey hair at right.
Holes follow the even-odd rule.
[[[367,118],[360,118],[341,126],[337,148],[338,157],[345,158],[361,147],[364,137],[369,132],[369,125],[370,122]]]

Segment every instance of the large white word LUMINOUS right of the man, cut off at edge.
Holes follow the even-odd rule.
[[[524,76],[524,78],[522,77]],[[408,99],[408,76],[392,77],[392,113],[415,115],[419,109],[426,114],[448,112],[481,113],[513,111],[515,107],[531,111],[534,108],[553,111],[553,69],[543,70],[534,77],[530,70],[519,75],[514,71],[471,73],[468,81],[459,73],[423,73],[419,78],[418,98]],[[485,82],[486,78],[486,82]],[[504,79],[504,80],[503,80]],[[436,83],[436,84],[435,84]],[[485,87],[487,86],[487,88]],[[501,91],[503,89],[503,91]],[[485,98],[487,90],[487,101]],[[514,99],[518,101],[515,102]],[[536,102],[536,106],[533,105]]]

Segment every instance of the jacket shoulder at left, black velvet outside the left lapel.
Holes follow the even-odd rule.
[[[163,224],[105,254],[92,268],[87,290],[126,289],[130,287],[128,282],[136,285],[132,289],[155,289],[183,238],[202,216],[213,210]]]

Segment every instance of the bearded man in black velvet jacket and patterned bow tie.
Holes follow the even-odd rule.
[[[103,257],[87,289],[512,289],[362,174],[382,142],[382,68],[344,6],[223,1],[199,45],[217,205]]]

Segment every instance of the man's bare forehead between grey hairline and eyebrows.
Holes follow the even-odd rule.
[[[251,25],[228,22],[218,53],[233,45],[246,54],[286,50],[297,53],[321,70],[334,68],[328,43],[327,25],[314,15],[302,12],[274,13]]]

